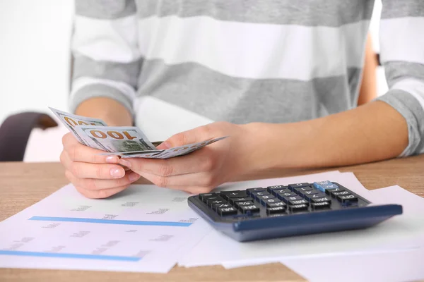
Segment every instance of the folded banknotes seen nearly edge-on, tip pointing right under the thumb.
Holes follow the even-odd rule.
[[[122,158],[146,158],[146,159],[170,159],[172,157],[182,156],[184,154],[190,154],[198,149],[201,149],[205,146],[211,145],[214,142],[218,142],[227,138],[228,136],[218,137],[211,140],[206,140],[203,142],[197,142],[189,145],[173,147],[170,149],[155,150],[155,151],[144,151],[144,152],[115,152],[114,155],[118,155]],[[102,153],[102,155],[110,155],[107,153]]]

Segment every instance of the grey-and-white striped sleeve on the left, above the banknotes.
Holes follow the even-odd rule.
[[[69,107],[109,97],[131,114],[141,69],[134,0],[76,0]]]

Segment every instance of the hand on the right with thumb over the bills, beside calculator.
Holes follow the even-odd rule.
[[[254,136],[246,125],[218,122],[173,135],[158,146],[167,149],[229,136],[191,154],[170,159],[120,159],[119,163],[164,188],[184,190],[192,194],[206,193],[216,186],[252,169],[250,140]]]

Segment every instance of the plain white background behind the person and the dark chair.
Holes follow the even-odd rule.
[[[377,0],[370,26],[379,51]],[[0,124],[20,111],[67,109],[73,0],[0,0]],[[378,73],[379,94],[387,90]],[[25,161],[57,161],[63,127],[35,130]]]

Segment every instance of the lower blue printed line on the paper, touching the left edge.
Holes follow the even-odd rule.
[[[141,259],[141,257],[84,255],[84,254],[69,254],[69,253],[59,253],[59,252],[24,252],[24,251],[6,251],[6,250],[0,250],[0,255],[17,255],[22,257],[62,257],[66,259],[101,259],[101,260],[118,260],[122,262],[138,262]]]

